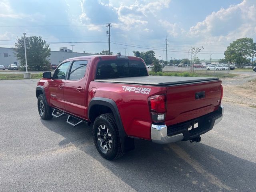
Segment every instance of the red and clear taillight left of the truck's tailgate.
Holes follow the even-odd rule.
[[[164,122],[166,115],[166,95],[154,95],[148,98],[150,114],[153,122]]]

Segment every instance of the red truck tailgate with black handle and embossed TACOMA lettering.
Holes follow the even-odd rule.
[[[198,118],[218,110],[221,80],[167,86],[166,125]]]

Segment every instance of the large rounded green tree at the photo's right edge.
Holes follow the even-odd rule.
[[[241,67],[242,64],[247,63],[247,57],[252,57],[254,49],[254,42],[252,38],[240,38],[227,47],[224,52],[226,60],[238,64]],[[254,56],[253,56],[254,57]]]

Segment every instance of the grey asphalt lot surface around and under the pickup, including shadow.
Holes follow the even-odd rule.
[[[222,103],[222,122],[200,143],[136,140],[103,159],[92,126],[41,120],[37,80],[0,81],[0,191],[256,191],[256,109]]]

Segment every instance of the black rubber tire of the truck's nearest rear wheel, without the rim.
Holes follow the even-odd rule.
[[[111,133],[112,146],[109,150],[104,150],[98,141],[98,129],[102,125],[105,125]],[[124,155],[121,148],[118,127],[116,126],[116,119],[112,113],[101,114],[95,119],[92,135],[94,144],[102,157],[108,160],[114,160]]]

